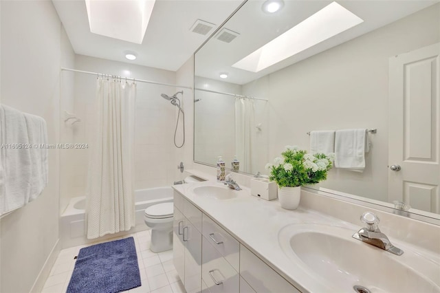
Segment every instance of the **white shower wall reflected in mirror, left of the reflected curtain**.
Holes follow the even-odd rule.
[[[195,87],[241,94],[241,85],[226,83],[210,78],[195,78]],[[235,99],[232,96],[195,91],[195,160],[216,164],[217,157],[223,156],[226,166],[235,153]]]

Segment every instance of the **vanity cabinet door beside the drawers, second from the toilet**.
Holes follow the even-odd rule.
[[[186,292],[201,291],[201,232],[185,219],[183,241],[185,243]]]

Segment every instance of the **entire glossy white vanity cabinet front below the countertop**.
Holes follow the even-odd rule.
[[[187,292],[300,292],[177,191],[174,263]]]

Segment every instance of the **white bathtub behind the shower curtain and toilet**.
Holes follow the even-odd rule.
[[[105,235],[100,239],[148,230],[149,228],[144,223],[144,211],[148,206],[162,202],[173,202],[173,188],[167,186],[135,191],[135,227],[131,228],[130,231],[119,232],[116,235]],[[97,240],[87,239],[85,231],[85,196],[72,197],[61,215],[60,238],[62,248],[79,246]]]

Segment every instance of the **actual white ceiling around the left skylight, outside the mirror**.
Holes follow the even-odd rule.
[[[84,0],[52,2],[76,54],[176,71],[242,1],[156,0],[140,45],[92,34]],[[197,19],[216,27],[206,36],[190,32]],[[126,51],[136,52],[137,59],[128,61]]]

